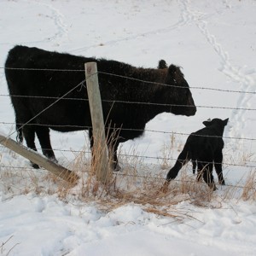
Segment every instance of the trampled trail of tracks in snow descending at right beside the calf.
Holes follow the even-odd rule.
[[[189,0],[180,0],[179,1],[182,7],[182,16],[183,19],[189,23],[194,22],[195,25],[199,28],[201,34],[206,38],[207,42],[212,45],[212,49],[216,52],[219,57],[220,67],[218,70],[221,73],[224,73],[225,76],[229,77],[229,79],[236,84],[239,84],[239,89],[241,91],[253,91],[255,81],[250,74],[255,73],[255,70],[250,72],[242,72],[239,68],[232,65],[230,61],[229,53],[224,49],[224,47],[218,42],[218,39],[208,30],[207,21],[203,20],[204,14],[197,10],[192,10],[189,7]],[[227,3],[224,4],[225,8],[229,7]],[[225,136],[227,137],[242,137],[242,131],[246,125],[246,119],[244,115],[246,113],[246,108],[250,107],[249,101],[252,99],[253,95],[243,94],[238,97],[236,102],[236,108],[243,108],[243,109],[235,109],[232,111],[230,116],[230,131],[226,131]],[[236,124],[232,126],[232,124]],[[230,142],[231,143],[231,142]],[[237,148],[237,140],[234,139],[232,142]]]

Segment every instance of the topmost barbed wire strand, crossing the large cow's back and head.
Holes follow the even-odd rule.
[[[50,72],[83,72],[84,69],[58,69],[58,68],[25,68],[25,67],[0,67],[0,69],[10,69],[10,70],[26,70],[26,71],[50,71]],[[164,83],[157,83],[157,82],[152,82],[152,81],[147,81],[143,79],[135,79],[115,73],[106,73],[102,71],[98,71],[97,73],[102,73],[105,75],[109,76],[114,76],[114,77],[119,77],[122,79],[130,79],[133,81],[137,82],[142,82],[145,84],[158,84],[162,86],[167,86],[167,87],[176,87],[176,88],[181,88],[178,85],[175,84],[164,84]],[[203,86],[189,86],[189,89],[195,89],[195,90],[215,90],[215,91],[221,91],[221,92],[228,92],[228,93],[244,93],[244,94],[256,94],[256,91],[244,91],[244,90],[224,90],[224,89],[217,89],[217,88],[208,88],[208,87],[203,87]]]

